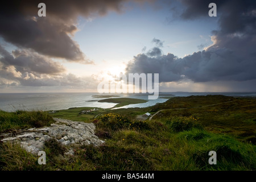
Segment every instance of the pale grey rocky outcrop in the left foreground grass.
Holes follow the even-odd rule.
[[[44,142],[51,138],[58,140],[61,144],[93,144],[99,146],[104,141],[94,135],[96,126],[94,123],[70,121],[67,119],[53,118],[56,122],[48,127],[19,130],[13,134],[3,134],[2,142],[15,141],[28,152],[38,154],[43,150]],[[72,154],[72,152],[69,152]]]

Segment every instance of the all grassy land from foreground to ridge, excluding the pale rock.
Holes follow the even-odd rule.
[[[100,109],[88,114],[71,108],[46,115],[94,122],[100,147],[76,146],[64,158],[63,146],[46,144],[47,164],[18,145],[0,143],[2,170],[255,170],[256,99],[226,96],[174,97],[146,108]],[[154,115],[138,121],[137,115]],[[6,113],[1,113],[0,117]],[[9,118],[14,117],[8,116]],[[26,114],[26,113],[23,113]],[[29,114],[29,112],[27,112]],[[19,113],[16,115],[19,115]],[[38,115],[39,119],[42,115]],[[22,118],[22,117],[20,117]],[[41,119],[42,120],[42,119]],[[1,122],[5,119],[0,120]],[[13,128],[5,121],[5,131]],[[22,125],[20,128],[34,126]],[[11,122],[10,122],[11,123]],[[48,123],[48,122],[47,122]],[[49,121],[50,123],[50,121]],[[2,125],[2,123],[1,123]],[[17,129],[19,126],[15,126]],[[3,130],[2,130],[3,131]],[[217,164],[208,163],[209,151]],[[11,158],[9,156],[12,156]]]

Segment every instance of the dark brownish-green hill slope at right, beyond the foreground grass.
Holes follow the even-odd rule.
[[[183,108],[191,107],[188,109]],[[171,98],[151,107],[155,119],[172,116],[199,118],[205,130],[232,135],[241,141],[256,142],[256,99],[225,96],[191,96]]]

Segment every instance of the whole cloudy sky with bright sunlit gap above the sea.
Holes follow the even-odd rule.
[[[97,92],[129,73],[159,73],[160,92],[256,92],[254,0],[10,0],[0,24],[0,93]]]

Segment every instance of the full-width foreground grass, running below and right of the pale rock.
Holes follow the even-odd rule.
[[[118,115],[114,116],[118,117]],[[112,116],[110,116],[112,118]],[[114,119],[114,118],[112,118]],[[180,118],[182,119],[182,117]],[[55,140],[45,144],[46,166],[36,164],[36,156],[11,144],[0,144],[3,170],[255,170],[256,147],[224,134],[204,129],[172,131],[166,120],[147,125],[112,129],[99,119],[97,130],[105,131],[100,147],[75,146],[75,155],[64,158],[67,148]],[[126,121],[132,122],[132,121]],[[176,121],[172,121],[176,122]],[[105,137],[104,137],[105,136]],[[208,163],[209,151],[217,152],[217,164]],[[10,157],[12,156],[12,157]]]

